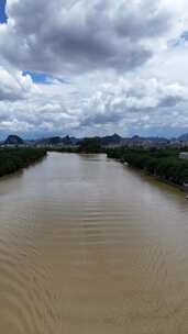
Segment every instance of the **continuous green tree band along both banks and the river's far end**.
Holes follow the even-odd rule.
[[[47,151],[62,153],[107,153],[110,158],[115,158],[121,163],[144,170],[165,181],[177,186],[188,183],[188,160],[180,159],[180,149],[177,148],[128,148],[102,147],[98,138],[85,138],[77,146],[64,148],[1,148],[0,149],[0,177],[14,172],[46,155]]]

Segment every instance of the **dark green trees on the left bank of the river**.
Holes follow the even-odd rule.
[[[43,148],[0,148],[0,177],[27,167],[45,155]]]

